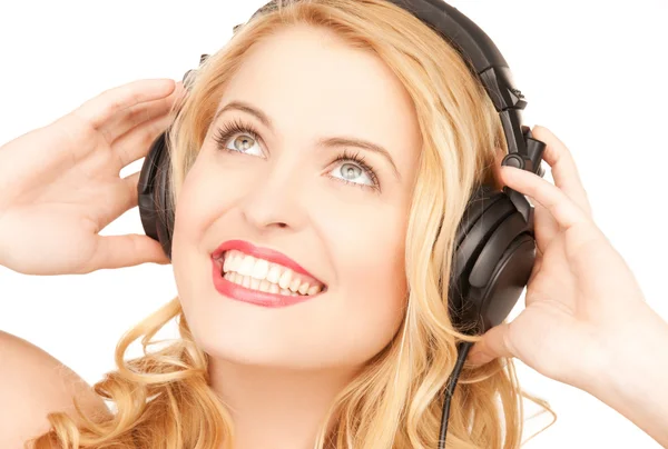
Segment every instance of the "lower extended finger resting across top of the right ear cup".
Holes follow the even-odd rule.
[[[590,220],[560,188],[536,173],[514,167],[502,167],[501,177],[505,186],[531,197],[548,209],[557,223],[567,230]]]

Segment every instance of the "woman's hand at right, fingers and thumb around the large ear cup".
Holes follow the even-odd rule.
[[[586,389],[615,349],[638,331],[651,309],[621,256],[591,217],[587,192],[566,146],[547,128],[544,143],[554,184],[525,170],[500,169],[500,181],[534,206],[536,266],[525,305],[509,323],[490,329],[469,361],[517,357],[552,379]]]

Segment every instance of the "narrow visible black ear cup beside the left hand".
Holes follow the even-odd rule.
[[[168,209],[169,148],[168,130],[158,136],[150,146],[141,166],[137,183],[139,216],[148,237],[160,242],[165,255],[171,259],[171,231],[174,211]]]

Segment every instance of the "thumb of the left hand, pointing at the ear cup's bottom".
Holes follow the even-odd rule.
[[[160,243],[148,236],[99,236],[92,270],[135,267],[141,263],[167,265],[169,259]]]

